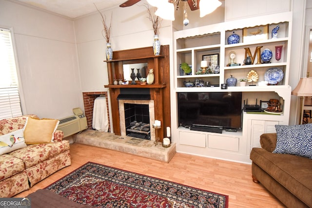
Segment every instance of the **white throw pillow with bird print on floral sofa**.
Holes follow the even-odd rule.
[[[26,147],[23,129],[0,136],[0,155],[23,147]]]

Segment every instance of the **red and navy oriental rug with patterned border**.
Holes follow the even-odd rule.
[[[228,208],[228,196],[88,162],[48,186],[101,208]]]

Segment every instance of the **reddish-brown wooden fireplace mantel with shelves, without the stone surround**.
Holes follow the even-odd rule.
[[[123,77],[122,65],[124,62],[144,61],[147,62],[148,69],[154,69],[154,83],[140,85],[114,85],[114,79],[117,76]],[[120,94],[121,88],[134,88],[137,93],[140,93],[141,88],[149,88],[151,100],[154,100],[155,105],[155,120],[161,121],[161,129],[158,130],[158,135],[162,141],[166,137],[165,129],[170,127],[170,60],[169,60],[169,45],[161,46],[161,55],[154,56],[153,47],[137,48],[130,50],[114,51],[113,60],[104,61],[107,63],[109,84],[104,85],[109,88],[111,97],[112,121],[113,130],[116,135],[121,135],[120,117],[118,109],[117,96]],[[166,101],[166,102],[165,102]]]

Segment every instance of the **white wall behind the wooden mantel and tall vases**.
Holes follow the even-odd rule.
[[[147,18],[147,9],[142,6],[145,0],[131,7],[115,7],[101,11],[107,24],[112,17],[111,44],[113,51],[149,47],[153,43],[152,22]],[[154,12],[153,8],[150,8]],[[106,40],[102,37],[102,21],[98,12],[75,19],[79,73],[83,92],[106,91],[108,84],[105,49]],[[162,45],[172,42],[171,22],[163,20],[159,32]]]

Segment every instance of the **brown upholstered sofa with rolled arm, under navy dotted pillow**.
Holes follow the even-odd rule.
[[[251,151],[253,181],[260,182],[289,208],[311,208],[312,159],[272,153],[276,141],[276,133],[264,133],[260,136],[262,148]]]

